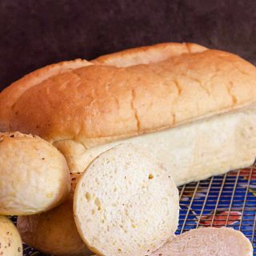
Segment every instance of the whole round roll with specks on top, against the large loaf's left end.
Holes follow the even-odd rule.
[[[0,133],[0,214],[26,215],[50,210],[70,192],[63,155],[32,135]]]

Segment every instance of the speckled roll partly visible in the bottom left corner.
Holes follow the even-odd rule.
[[[0,255],[22,256],[22,238],[9,218],[0,216]]]

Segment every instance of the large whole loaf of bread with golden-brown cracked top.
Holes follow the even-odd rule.
[[[135,48],[14,82],[0,94],[0,130],[42,136],[74,172],[129,139],[181,185],[254,162],[255,83],[256,68],[234,54],[186,43]]]

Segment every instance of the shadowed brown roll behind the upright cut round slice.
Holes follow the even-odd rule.
[[[45,254],[58,256],[92,255],[74,224],[73,195],[54,209],[30,216],[18,216],[22,241]]]

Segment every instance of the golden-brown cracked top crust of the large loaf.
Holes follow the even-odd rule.
[[[256,68],[223,51],[166,43],[93,62],[46,67],[3,90],[0,130],[90,148],[256,103]]]

